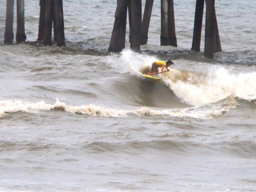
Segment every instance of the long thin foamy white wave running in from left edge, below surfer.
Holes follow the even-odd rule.
[[[25,102],[20,100],[15,101],[0,101],[0,116],[4,116],[11,112],[39,112],[41,110],[64,111],[75,114],[84,114],[95,117],[190,117],[190,118],[211,118],[219,116],[223,112],[227,112],[237,106],[237,102],[233,96],[229,96],[223,100],[185,109],[153,109],[149,107],[141,107],[139,109],[111,109],[107,107],[95,105],[69,106],[57,99],[54,105],[40,101],[37,103]]]

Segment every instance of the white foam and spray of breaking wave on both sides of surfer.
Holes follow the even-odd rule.
[[[128,71],[140,76],[140,73],[150,69],[155,60],[158,60],[155,56],[125,50],[120,55],[110,56],[108,63],[121,73]],[[230,95],[247,101],[256,100],[256,72],[235,73],[223,66],[207,65],[208,71],[204,71],[205,66],[199,66],[203,71],[186,71],[176,69],[174,65],[170,72],[159,76],[179,100],[187,105],[209,104]]]

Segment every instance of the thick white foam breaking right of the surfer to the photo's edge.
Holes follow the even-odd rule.
[[[163,77],[165,84],[189,105],[212,103],[229,95],[249,101],[256,99],[256,72],[232,74],[219,67],[202,76],[190,73],[187,80],[174,80],[170,74]]]

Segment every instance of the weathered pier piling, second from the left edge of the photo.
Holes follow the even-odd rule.
[[[24,15],[24,0],[17,0],[17,32],[16,42],[25,42],[27,39],[25,34],[25,15]]]

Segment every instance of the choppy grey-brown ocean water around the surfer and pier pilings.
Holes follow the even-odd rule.
[[[107,53],[116,1],[64,0],[66,47],[4,45],[0,5],[0,191],[256,191],[256,1],[215,2],[223,51],[191,51],[195,0],[174,0],[178,47]],[[143,5],[145,1],[143,0]],[[16,7],[16,6],[15,6]],[[16,32],[16,11],[14,33]],[[141,73],[175,65],[162,83]]]

